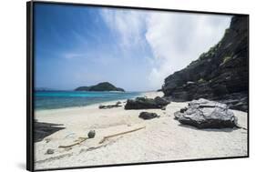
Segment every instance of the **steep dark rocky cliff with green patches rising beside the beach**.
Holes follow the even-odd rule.
[[[186,68],[165,79],[162,91],[173,101],[208,98],[248,110],[248,16],[233,16],[220,42]]]

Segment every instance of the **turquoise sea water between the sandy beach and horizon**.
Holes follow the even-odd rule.
[[[36,110],[88,106],[134,98],[139,92],[36,91]]]

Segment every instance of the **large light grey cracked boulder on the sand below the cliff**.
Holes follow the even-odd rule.
[[[237,126],[237,117],[226,104],[200,98],[189,103],[188,107],[174,114],[181,124],[198,128],[223,128]]]

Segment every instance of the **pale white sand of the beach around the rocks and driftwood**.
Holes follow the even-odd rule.
[[[145,96],[162,96],[162,93],[149,92]],[[124,101],[121,101],[123,106]],[[246,129],[197,129],[182,126],[174,120],[174,112],[187,106],[187,103],[171,102],[166,110],[125,110],[123,106],[99,109],[98,106],[36,112],[38,122],[63,124],[66,127],[36,142],[36,169],[247,156]],[[160,117],[143,120],[138,118],[141,111],[156,112]],[[233,112],[238,117],[239,126],[247,128],[247,113]],[[140,126],[146,127],[111,137],[99,144],[103,137]],[[78,137],[87,137],[91,129],[96,131],[95,138],[87,139],[71,149],[58,148],[74,143]],[[55,153],[47,155],[49,148],[54,149]]]

